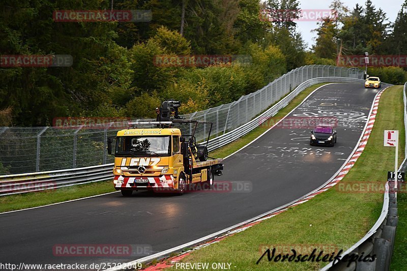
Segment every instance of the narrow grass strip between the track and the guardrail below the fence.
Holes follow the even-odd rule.
[[[312,91],[325,83],[315,84],[302,91],[295,97],[286,107],[281,109],[273,119],[282,118],[288,112],[298,106]],[[211,157],[223,158],[236,152],[254,138],[264,133],[270,127],[260,126],[245,135],[242,138],[231,142],[214,152],[210,153]],[[19,210],[24,208],[37,207],[66,200],[78,199],[83,197],[90,197],[104,193],[114,192],[113,184],[111,181],[97,182],[92,184],[77,185],[57,190],[48,190],[44,192],[25,193],[18,195],[2,196],[0,197],[0,212],[8,212],[10,210]]]

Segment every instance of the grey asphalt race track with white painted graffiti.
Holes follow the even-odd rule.
[[[223,186],[218,191],[183,196],[135,192],[130,198],[119,192],[0,215],[1,261],[126,262],[293,201],[324,184],[345,162],[356,146],[377,92],[351,83],[318,89],[287,119],[329,117],[337,124],[337,144],[310,146],[312,128],[293,129],[283,122],[224,160],[224,175],[215,176],[215,182],[231,182],[231,190]],[[57,244],[126,244],[136,245],[139,250],[122,258],[63,257],[53,254]]]

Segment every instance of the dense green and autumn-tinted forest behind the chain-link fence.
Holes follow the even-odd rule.
[[[235,101],[303,65],[335,65],[338,53],[406,54],[407,0],[392,24],[370,0],[353,10],[338,0],[331,7],[338,16],[319,23],[307,50],[295,21],[264,16],[273,9],[295,18],[299,0],[3,0],[0,54],[71,55],[73,64],[0,67],[0,126],[50,126],[57,116],[152,117],[168,98],[189,113]],[[151,10],[152,19],[53,18],[56,10],[110,9]],[[160,67],[159,55],[246,55],[250,64]]]

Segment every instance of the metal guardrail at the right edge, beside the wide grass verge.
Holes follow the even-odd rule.
[[[404,130],[407,131],[407,82],[403,88],[404,102]],[[404,153],[404,161],[401,163],[398,171],[405,170],[407,166],[407,136],[405,137],[406,148]],[[395,195],[394,182],[386,183],[384,194],[382,213],[374,223],[373,227],[360,239],[355,245],[346,250],[341,255],[341,260],[333,265],[333,262],[326,265],[321,271],[326,270],[347,270],[347,271],[374,271],[374,270],[389,270],[391,257],[393,255],[394,240],[396,227],[398,223],[397,212],[397,197]],[[355,261],[349,262],[345,260],[349,255],[366,256],[375,255],[373,261]]]

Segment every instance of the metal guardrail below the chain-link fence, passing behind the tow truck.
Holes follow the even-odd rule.
[[[323,82],[353,82],[363,83],[364,80],[344,77],[322,77],[313,78],[300,84],[293,92],[284,97],[277,104],[252,119],[248,123],[216,138],[210,140],[208,149],[214,150],[235,139],[249,133],[264,122],[267,117],[275,115],[284,108],[291,100],[307,87]],[[23,174],[11,174],[0,176],[0,196],[18,194],[25,192],[56,189],[78,184],[86,184],[107,180],[113,177],[113,164],[82,167],[76,169],[63,169]]]

